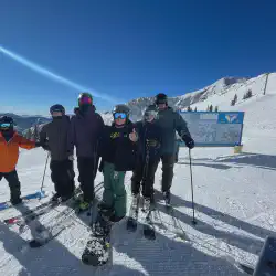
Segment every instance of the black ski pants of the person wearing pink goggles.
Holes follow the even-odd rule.
[[[77,158],[78,182],[83,191],[84,201],[91,202],[94,199],[94,180],[97,174],[98,158]]]

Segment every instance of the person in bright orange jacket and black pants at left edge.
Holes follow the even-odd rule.
[[[13,205],[22,202],[20,198],[20,181],[15,170],[19,147],[24,149],[32,149],[40,146],[34,141],[30,141],[20,136],[13,129],[13,119],[3,116],[0,117],[0,180],[6,178],[10,187],[10,201]]]

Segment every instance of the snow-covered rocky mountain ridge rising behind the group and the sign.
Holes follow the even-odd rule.
[[[270,73],[267,83],[267,94],[276,91],[276,73]],[[231,100],[237,94],[236,106],[247,103],[252,99],[243,100],[244,94],[252,89],[254,99],[262,97],[266,81],[266,74],[259,75],[253,78],[235,78],[224,77],[219,79],[212,85],[209,85],[202,89],[187,93],[182,96],[170,97],[169,105],[174,109],[187,110],[188,106],[192,109],[197,107],[197,110],[205,112],[208,106],[219,106],[219,110],[231,110]],[[146,109],[146,107],[153,103],[153,97],[142,97],[130,100],[127,105],[131,109],[131,115],[135,119],[139,119]]]

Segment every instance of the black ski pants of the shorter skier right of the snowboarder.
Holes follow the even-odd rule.
[[[159,159],[149,160],[148,164],[146,161],[139,159],[137,166],[134,170],[131,178],[131,192],[132,194],[138,194],[140,192],[140,185],[142,188],[141,194],[144,198],[153,198],[153,184],[155,184],[155,174]]]

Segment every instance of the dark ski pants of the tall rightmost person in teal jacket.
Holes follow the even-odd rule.
[[[173,179],[173,167],[176,161],[176,155],[162,155],[162,192],[170,191]]]

